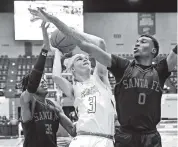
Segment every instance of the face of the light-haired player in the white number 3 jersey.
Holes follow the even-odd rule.
[[[73,69],[77,73],[85,73],[85,71],[91,71],[91,62],[89,61],[88,56],[80,55],[75,58],[73,63]]]

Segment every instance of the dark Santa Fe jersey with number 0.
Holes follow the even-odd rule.
[[[161,96],[170,75],[166,59],[142,66],[112,55],[108,68],[116,79],[115,99],[121,126],[137,130],[156,128],[161,118]]]

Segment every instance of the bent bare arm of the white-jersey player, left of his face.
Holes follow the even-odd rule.
[[[58,49],[54,50],[55,57],[53,63],[52,77],[56,85],[65,93],[67,97],[74,98],[72,84],[62,77],[61,52]]]

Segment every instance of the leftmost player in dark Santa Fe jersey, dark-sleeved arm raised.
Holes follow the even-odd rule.
[[[57,147],[56,133],[59,123],[75,136],[75,127],[62,108],[52,100],[45,99],[47,83],[43,70],[49,47],[47,27],[42,23],[44,46],[32,69],[22,80],[23,93],[20,97],[22,108],[22,127],[24,130],[24,147]]]

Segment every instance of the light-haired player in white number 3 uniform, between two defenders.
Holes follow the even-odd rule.
[[[88,37],[105,49],[99,44],[100,38]],[[78,110],[77,137],[70,147],[113,147],[114,107],[106,68],[96,63],[92,75],[87,55],[76,54],[68,60],[67,70],[74,77],[73,85],[61,76],[61,52],[55,49],[53,79],[67,97],[74,99]]]

